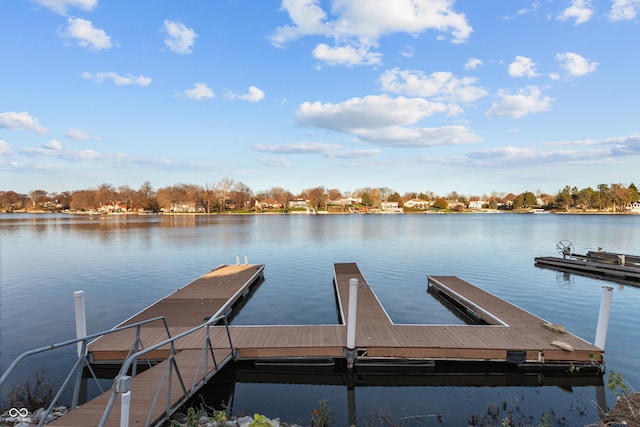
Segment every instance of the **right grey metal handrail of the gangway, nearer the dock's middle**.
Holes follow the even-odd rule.
[[[168,363],[167,366],[164,368],[164,372],[162,374],[162,377],[160,378],[160,381],[158,383],[158,387],[156,389],[153,401],[151,403],[151,407],[149,408],[149,412],[147,414],[147,419],[145,421],[145,426],[150,425],[151,423],[151,417],[152,417],[152,413],[153,413],[153,409],[155,408],[156,403],[158,403],[158,399],[160,396],[160,390],[162,388],[162,385],[165,381],[165,379],[168,376],[168,387],[167,387],[167,401],[166,401],[166,409],[165,409],[165,413],[164,413],[164,418],[161,421],[161,423],[168,419],[173,412],[175,412],[178,408],[180,408],[182,406],[182,404],[184,404],[184,402],[186,402],[190,397],[192,397],[199,389],[200,387],[205,384],[212,376],[213,374],[215,374],[218,370],[218,366],[219,363],[216,360],[216,357],[214,355],[213,352],[213,345],[211,343],[211,336],[210,336],[210,328],[211,326],[215,326],[217,323],[219,323],[220,321],[224,322],[224,327],[227,333],[227,339],[229,341],[229,350],[230,350],[230,355],[228,357],[234,357],[235,358],[235,349],[233,347],[233,342],[231,340],[231,333],[229,331],[229,323],[227,321],[227,316],[225,315],[220,315],[218,317],[214,317],[209,319],[206,323],[203,323],[201,325],[198,325],[194,328],[189,329],[188,331],[182,332],[178,335],[175,335],[171,338],[168,338],[165,341],[156,343],[154,345],[152,345],[151,347],[148,347],[144,350],[140,350],[135,354],[132,354],[131,356],[129,356],[125,362],[122,364],[122,367],[120,368],[120,372],[118,373],[118,375],[116,376],[116,378],[114,379],[114,387],[112,388],[112,393],[111,393],[111,397],[109,398],[109,402],[107,403],[107,406],[105,407],[104,413],[102,414],[102,418],[100,419],[100,423],[98,424],[99,427],[102,427],[106,424],[107,419],[111,413],[111,410],[113,409],[113,405],[116,401],[116,398],[118,396],[118,394],[121,395],[121,399],[122,399],[122,405],[121,405],[121,418],[120,418],[120,425],[128,425],[128,404],[130,401],[130,397],[131,397],[131,377],[127,375],[127,372],[129,372],[129,369],[132,367],[132,365],[135,365],[136,361],[142,357],[147,355],[148,353],[159,349],[160,347],[164,347],[166,345],[170,346],[170,351],[169,351],[169,358],[168,358]],[[196,367],[196,371],[193,375],[193,381],[191,383],[191,387],[187,390],[186,386],[185,386],[185,382],[184,379],[182,377],[182,374],[180,373],[180,369],[176,363],[175,360],[175,355],[176,355],[176,348],[175,348],[175,341],[184,338],[188,335],[193,334],[194,332],[197,332],[201,329],[206,329],[206,333],[205,333],[205,338],[204,338],[204,342],[202,344],[202,347],[200,349],[200,358],[198,359],[198,365]],[[208,354],[207,354],[208,353]],[[214,369],[209,373],[209,357],[211,356],[211,359],[214,363]],[[204,360],[203,360],[204,359]],[[204,366],[203,365],[204,362]],[[202,369],[202,376],[199,377],[199,372]],[[178,402],[175,405],[171,405],[171,390],[172,390],[172,382],[173,382],[173,374],[176,374],[177,380],[179,381],[179,385],[180,388],[182,390],[182,397],[178,400]],[[134,374],[135,375],[135,374]],[[125,410],[123,410],[123,408],[126,408]]]

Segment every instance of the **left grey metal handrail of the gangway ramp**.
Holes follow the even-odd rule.
[[[166,319],[164,318],[164,316],[159,316],[159,317],[154,317],[152,319],[147,319],[147,320],[143,320],[143,321],[140,321],[140,322],[132,323],[130,325],[116,327],[116,328],[110,329],[108,331],[98,332],[98,333],[95,333],[95,334],[87,335],[85,337],[75,338],[75,339],[71,339],[71,340],[67,340],[67,341],[62,341],[62,342],[59,342],[59,343],[55,343],[55,344],[39,347],[39,348],[36,348],[36,349],[33,349],[33,350],[25,351],[24,353],[22,353],[18,357],[16,357],[14,359],[14,361],[11,363],[11,365],[9,365],[9,368],[7,368],[7,370],[2,374],[2,377],[0,377],[0,387],[2,386],[2,384],[4,384],[4,382],[7,380],[7,378],[9,378],[9,376],[15,370],[15,368],[24,359],[26,359],[27,357],[30,357],[30,356],[33,356],[33,355],[36,355],[36,354],[40,354],[40,353],[44,353],[44,352],[47,352],[47,351],[51,351],[51,350],[60,349],[60,348],[67,347],[67,346],[70,346],[70,345],[73,345],[73,344],[77,345],[78,343],[82,343],[81,350],[80,350],[80,353],[79,353],[81,356],[79,356],[78,360],[76,360],[76,362],[74,363],[73,367],[71,368],[71,370],[69,371],[69,373],[65,377],[64,381],[62,382],[62,385],[58,389],[58,392],[56,393],[56,395],[54,396],[53,400],[51,401],[51,404],[49,405],[49,407],[47,408],[47,410],[43,414],[42,419],[40,420],[40,423],[38,424],[38,426],[40,427],[45,423],[45,421],[47,420],[47,417],[51,413],[51,410],[56,406],[56,403],[58,402],[58,399],[60,398],[60,396],[62,396],[62,392],[64,391],[66,386],[69,384],[69,381],[71,380],[71,378],[72,378],[74,373],[76,374],[76,382],[75,382],[74,391],[73,391],[73,399],[72,399],[72,403],[71,403],[71,408],[74,409],[78,405],[78,399],[79,399],[79,393],[80,393],[80,379],[81,379],[83,368],[85,368],[85,367],[88,368],[89,372],[91,373],[91,376],[96,381],[96,384],[97,384],[98,388],[100,389],[100,392],[104,393],[104,390],[102,390],[102,387],[100,386],[100,383],[98,381],[98,378],[97,378],[96,374],[94,373],[93,369],[91,368],[91,363],[88,360],[87,348],[88,348],[88,345],[89,345],[89,341],[95,340],[95,339],[100,338],[100,337],[105,336],[105,335],[110,335],[110,334],[115,333],[115,332],[121,332],[121,331],[124,331],[124,330],[127,330],[127,329],[136,328],[136,337],[134,339],[134,342],[131,345],[131,348],[129,349],[129,353],[127,354],[129,356],[134,351],[139,353],[138,346],[144,348],[144,345],[142,344],[142,340],[140,338],[141,327],[143,325],[145,325],[145,324],[148,324],[148,323],[151,323],[151,322],[157,322],[157,321],[162,321],[162,323],[164,325],[164,328],[165,328],[165,330],[167,332],[167,336],[169,338],[171,338],[171,332],[169,331],[169,326],[167,325]],[[137,359],[136,359],[136,361],[137,361]],[[147,361],[148,361],[149,364],[151,364],[151,362],[149,361],[148,358],[147,358]],[[133,366],[133,372],[135,373],[136,370],[137,370],[137,363],[134,364],[134,366]]]

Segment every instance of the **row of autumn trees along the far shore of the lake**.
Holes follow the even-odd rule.
[[[552,196],[534,194],[526,191],[518,195],[496,193],[481,196],[463,196],[456,191],[447,195],[438,195],[431,191],[408,192],[400,195],[387,187],[366,187],[354,191],[342,192],[338,189],[326,189],[324,186],[312,187],[293,194],[282,187],[254,192],[242,182],[223,178],[215,184],[204,186],[195,184],[175,184],[154,189],[149,182],[138,189],[129,186],[114,187],[101,184],[88,188],[61,193],[48,193],[45,190],[33,190],[28,194],[14,191],[0,191],[0,211],[124,211],[124,212],[222,212],[227,210],[253,210],[256,202],[269,200],[274,205],[286,208],[289,201],[306,200],[316,209],[326,209],[328,205],[344,200],[357,199],[364,206],[380,207],[383,202],[397,202],[398,206],[412,199],[428,201],[437,208],[461,210],[471,203],[479,203],[491,209],[521,209],[544,207],[545,209],[573,210],[624,210],[631,202],[640,200],[637,187],[631,183],[600,184],[597,189],[591,187],[578,189],[566,186]]]

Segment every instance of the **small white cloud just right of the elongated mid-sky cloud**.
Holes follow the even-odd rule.
[[[542,96],[542,92],[537,86],[528,86],[515,94],[501,90],[498,92],[498,96],[501,99],[491,106],[485,113],[486,116],[517,119],[527,114],[549,111],[551,101],[553,101],[548,96]]]

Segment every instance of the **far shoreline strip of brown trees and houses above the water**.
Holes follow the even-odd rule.
[[[388,187],[343,192],[318,186],[294,194],[282,187],[254,192],[242,182],[223,178],[204,186],[176,184],[154,189],[101,184],[61,193],[33,190],[28,194],[0,190],[2,212],[64,212],[85,214],[346,214],[346,213],[585,213],[640,214],[635,184],[599,184],[596,189],[565,186],[556,195],[524,191],[439,195],[432,191],[400,195]]]

